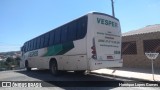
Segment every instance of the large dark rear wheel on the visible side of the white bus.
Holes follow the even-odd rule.
[[[57,68],[56,61],[51,61],[50,62],[50,72],[54,76],[58,75],[58,68]]]

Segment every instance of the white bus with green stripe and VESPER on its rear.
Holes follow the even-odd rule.
[[[121,28],[110,15],[92,12],[24,43],[27,70],[84,72],[122,67]]]

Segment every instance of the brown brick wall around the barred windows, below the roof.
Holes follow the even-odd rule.
[[[124,67],[151,68],[151,60],[145,56],[143,40],[160,39],[160,32],[123,36],[122,42],[136,41],[137,54],[122,55]],[[154,68],[160,68],[160,55],[154,61]]]

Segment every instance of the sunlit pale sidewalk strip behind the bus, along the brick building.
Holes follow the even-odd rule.
[[[123,77],[135,80],[146,80],[146,81],[160,81],[160,69],[155,70],[154,79],[152,76],[151,69],[138,69],[138,68],[110,68],[110,69],[99,69],[91,71],[91,73],[109,75],[115,77]]]

